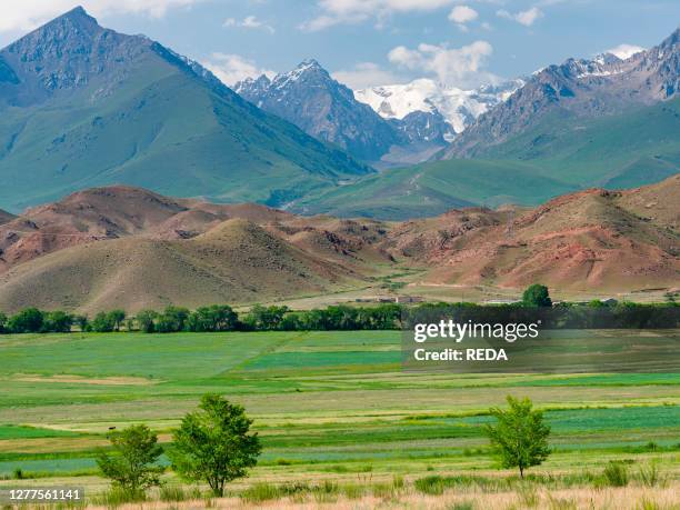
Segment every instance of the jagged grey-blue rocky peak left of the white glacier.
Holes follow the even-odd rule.
[[[264,76],[241,81],[234,90],[264,111],[363,160],[378,160],[402,142],[397,130],[313,59],[271,81]]]

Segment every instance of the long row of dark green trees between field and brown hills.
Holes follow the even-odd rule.
[[[8,317],[0,312],[0,333],[64,333],[80,331],[351,331],[407,329],[414,323],[453,319],[490,323],[541,321],[543,329],[680,328],[680,307],[664,303],[592,300],[587,303],[553,303],[548,288],[534,283],[516,303],[478,304],[430,302],[418,306],[381,303],[374,307],[334,304],[323,309],[290,310],[288,307],[254,304],[239,314],[228,304],[189,310],[167,307],[163,311],[141,310],[129,317],[124,310],[99,312],[92,319],[64,311],[27,308]]]

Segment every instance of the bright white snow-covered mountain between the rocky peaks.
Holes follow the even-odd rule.
[[[451,127],[446,133],[450,141],[483,112],[508,99],[523,83],[518,79],[500,86],[462,90],[422,78],[406,84],[357,90],[354,98],[369,104],[384,119],[401,120],[418,111],[439,113]]]

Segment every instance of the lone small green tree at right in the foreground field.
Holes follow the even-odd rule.
[[[539,466],[550,454],[548,436],[550,427],[543,423],[543,413],[533,411],[529,399],[508,396],[510,408],[490,409],[496,426],[486,426],[484,431],[500,456],[503,468],[519,468],[520,477],[531,466]]]

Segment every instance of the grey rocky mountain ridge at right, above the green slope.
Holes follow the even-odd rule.
[[[481,156],[550,114],[592,119],[674,98],[680,86],[679,39],[680,29],[661,44],[626,60],[603,54],[548,66],[507,101],[482,114],[442,157]]]

